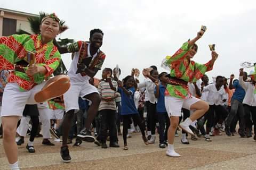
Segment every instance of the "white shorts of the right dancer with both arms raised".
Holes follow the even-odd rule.
[[[165,96],[165,108],[169,117],[171,116],[181,116],[181,108],[186,108],[190,111],[191,105],[201,101],[200,99],[191,96],[186,99],[181,99],[172,96]]]

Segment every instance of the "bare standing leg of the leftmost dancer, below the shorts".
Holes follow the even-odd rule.
[[[8,162],[14,164],[18,161],[18,147],[15,142],[15,134],[19,116],[2,117],[3,145]]]

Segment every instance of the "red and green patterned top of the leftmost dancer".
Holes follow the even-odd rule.
[[[29,77],[25,71],[28,67],[24,67],[23,71],[14,70],[14,64],[20,61],[26,61],[27,52],[35,53],[35,62],[40,66],[44,66],[46,74],[35,74]],[[21,91],[30,90],[36,84],[42,83],[47,79],[60,63],[60,53],[50,41],[42,44],[41,35],[12,35],[9,37],[0,37],[0,70],[13,70],[10,73],[8,82],[15,82],[19,85]]]

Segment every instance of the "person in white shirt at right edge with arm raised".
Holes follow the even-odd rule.
[[[246,129],[251,129],[251,120],[250,117],[252,115],[253,128],[254,128],[254,137],[253,140],[256,140],[256,94],[255,94],[255,81],[251,79],[250,82],[245,82],[243,80],[243,69],[239,70],[239,83],[245,90],[245,96],[243,100],[244,112],[245,112],[245,121],[246,121]],[[249,133],[251,130],[248,131]],[[247,137],[251,136],[247,134]]]

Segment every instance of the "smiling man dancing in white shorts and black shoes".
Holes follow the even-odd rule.
[[[66,114],[63,118],[62,126],[62,147],[61,158],[63,162],[70,162],[67,140],[68,132],[75,111],[79,110],[78,97],[88,99],[92,102],[87,111],[87,118],[84,129],[77,135],[82,140],[94,142],[95,138],[91,135],[90,126],[98,112],[100,96],[97,88],[89,83],[89,79],[101,69],[106,55],[100,50],[102,46],[103,32],[100,29],[90,31],[90,42],[77,41],[66,47],[58,47],[59,52],[74,53],[73,61],[68,71],[71,87],[64,95]]]

